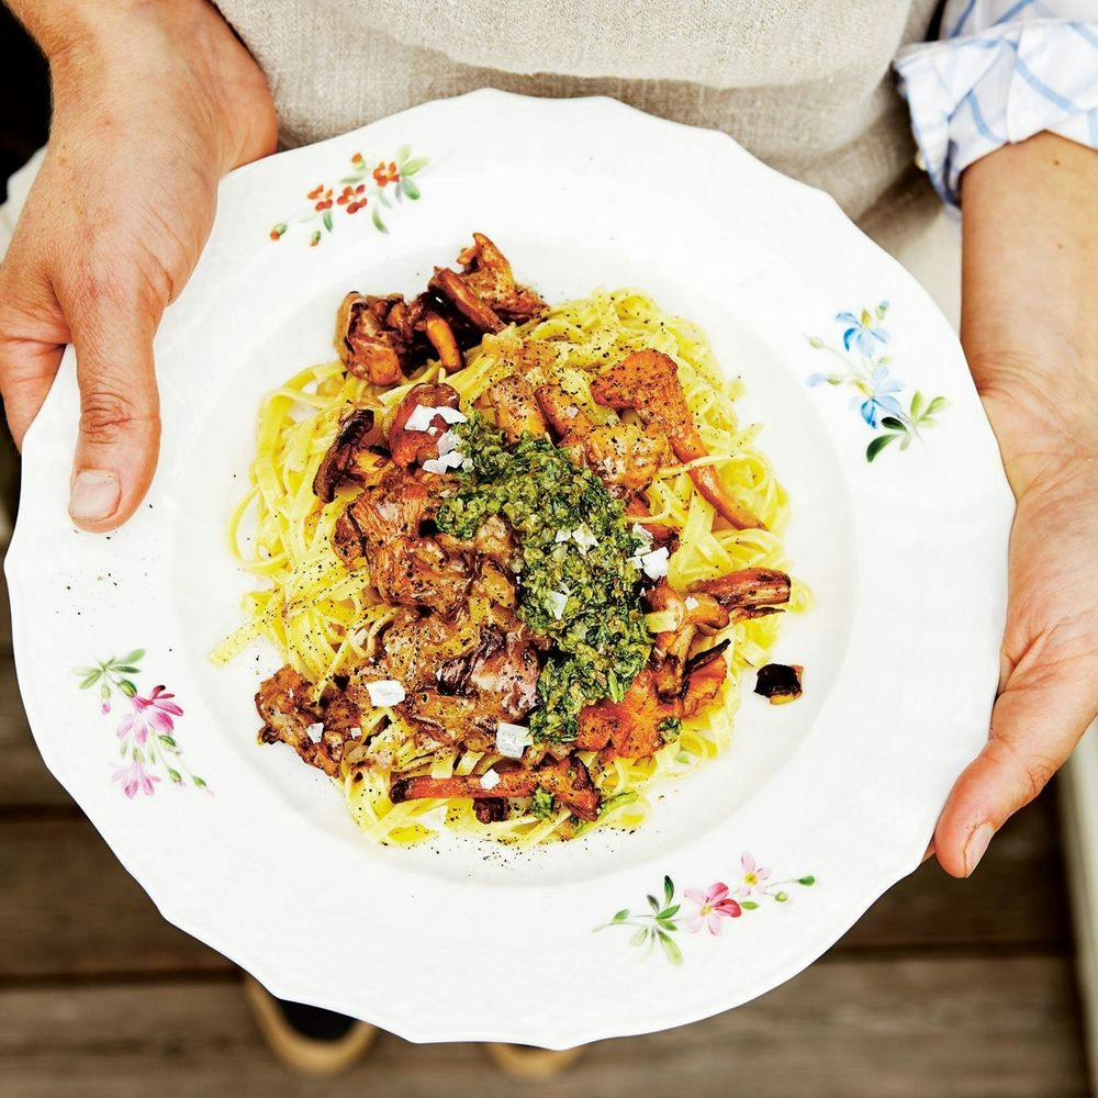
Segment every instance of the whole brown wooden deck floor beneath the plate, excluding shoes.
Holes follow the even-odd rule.
[[[739,1010],[505,1079],[475,1045],[383,1037],[349,1075],[267,1053],[233,966],[166,923],[31,741],[0,605],[0,1095],[1066,1098],[1088,1094],[1052,796],[978,874],[925,865],[818,964]]]

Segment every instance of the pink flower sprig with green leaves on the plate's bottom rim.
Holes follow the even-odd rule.
[[[688,934],[706,930],[710,937],[719,937],[730,926],[729,920],[739,919],[746,911],[757,911],[768,903],[788,903],[787,886],[800,885],[808,888],[816,884],[814,876],[772,882],[770,875],[769,869],[759,865],[744,851],[740,858],[739,879],[735,884],[716,881],[705,889],[684,888],[682,899],[676,900],[674,882],[666,876],[663,878],[662,903],[649,895],[648,911],[634,912],[627,907],[623,908],[609,922],[604,922],[594,930],[597,933],[607,927],[629,927],[632,930],[629,938],[631,946],[643,949],[645,954],[649,955],[658,944],[668,961],[682,964],[683,951],[673,937],[680,930],[685,930]]]

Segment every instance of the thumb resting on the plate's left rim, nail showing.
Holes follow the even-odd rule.
[[[68,307],[80,385],[80,430],[69,515],[86,530],[113,530],[137,508],[156,471],[160,411],[153,336],[161,306],[124,282]]]

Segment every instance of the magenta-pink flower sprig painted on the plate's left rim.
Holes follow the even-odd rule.
[[[141,674],[138,664],[145,650],[136,648],[121,658],[98,660],[87,668],[76,668],[80,690],[99,687],[99,709],[105,717],[117,699],[123,709],[115,735],[119,740],[119,765],[112,781],[131,799],[138,793],[152,797],[157,785],[167,778],[172,785],[192,785],[210,792],[205,781],[183,763],[182,749],[176,739],[176,720],[183,715],[176,695],[167,687],[154,686],[142,694],[130,677]]]

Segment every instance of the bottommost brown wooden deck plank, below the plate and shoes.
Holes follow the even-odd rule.
[[[1083,1098],[1074,1008],[1062,957],[848,959],[717,1018],[593,1045],[565,1075],[522,1091]],[[9,1098],[505,1098],[517,1089],[474,1045],[389,1035],[339,1079],[298,1079],[261,1044],[238,987],[221,981],[2,991],[0,1078]]]

